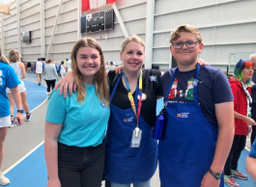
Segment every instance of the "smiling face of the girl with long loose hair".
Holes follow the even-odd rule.
[[[93,47],[80,47],[76,55],[76,64],[85,80],[93,80],[100,69],[100,52]]]

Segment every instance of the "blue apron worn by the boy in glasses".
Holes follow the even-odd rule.
[[[167,93],[166,131],[159,141],[159,175],[162,187],[200,187],[209,171],[216,147],[218,132],[205,118],[197,98],[197,65],[193,102],[168,103],[167,98],[179,69],[176,68]],[[223,177],[220,186],[223,187]]]

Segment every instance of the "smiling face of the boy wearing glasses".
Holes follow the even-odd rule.
[[[192,33],[180,33],[180,38],[173,42],[197,41],[196,35]],[[170,46],[171,54],[174,56],[178,66],[191,66],[197,62],[198,54],[203,50],[203,43],[196,43],[194,48],[187,48],[185,44],[181,49],[174,49]]]

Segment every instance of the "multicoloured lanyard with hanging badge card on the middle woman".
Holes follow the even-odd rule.
[[[142,101],[142,73],[140,73],[140,75],[139,75],[139,102],[138,102],[138,111],[137,112],[136,112],[136,107],[135,107],[133,96],[130,92],[126,74],[124,74],[124,78],[125,78],[127,90],[128,90],[128,99],[130,101],[130,105],[134,112],[134,115],[137,119],[137,126],[132,131],[130,147],[132,147],[132,148],[140,147],[140,142],[141,142],[141,138],[142,138],[142,130],[139,129],[139,116],[140,116],[140,111],[141,111],[141,107],[142,107],[142,102],[141,102]]]

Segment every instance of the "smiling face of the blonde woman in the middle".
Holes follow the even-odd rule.
[[[124,64],[124,70],[138,71],[145,59],[145,48],[138,42],[130,41],[120,52],[120,58]]]

